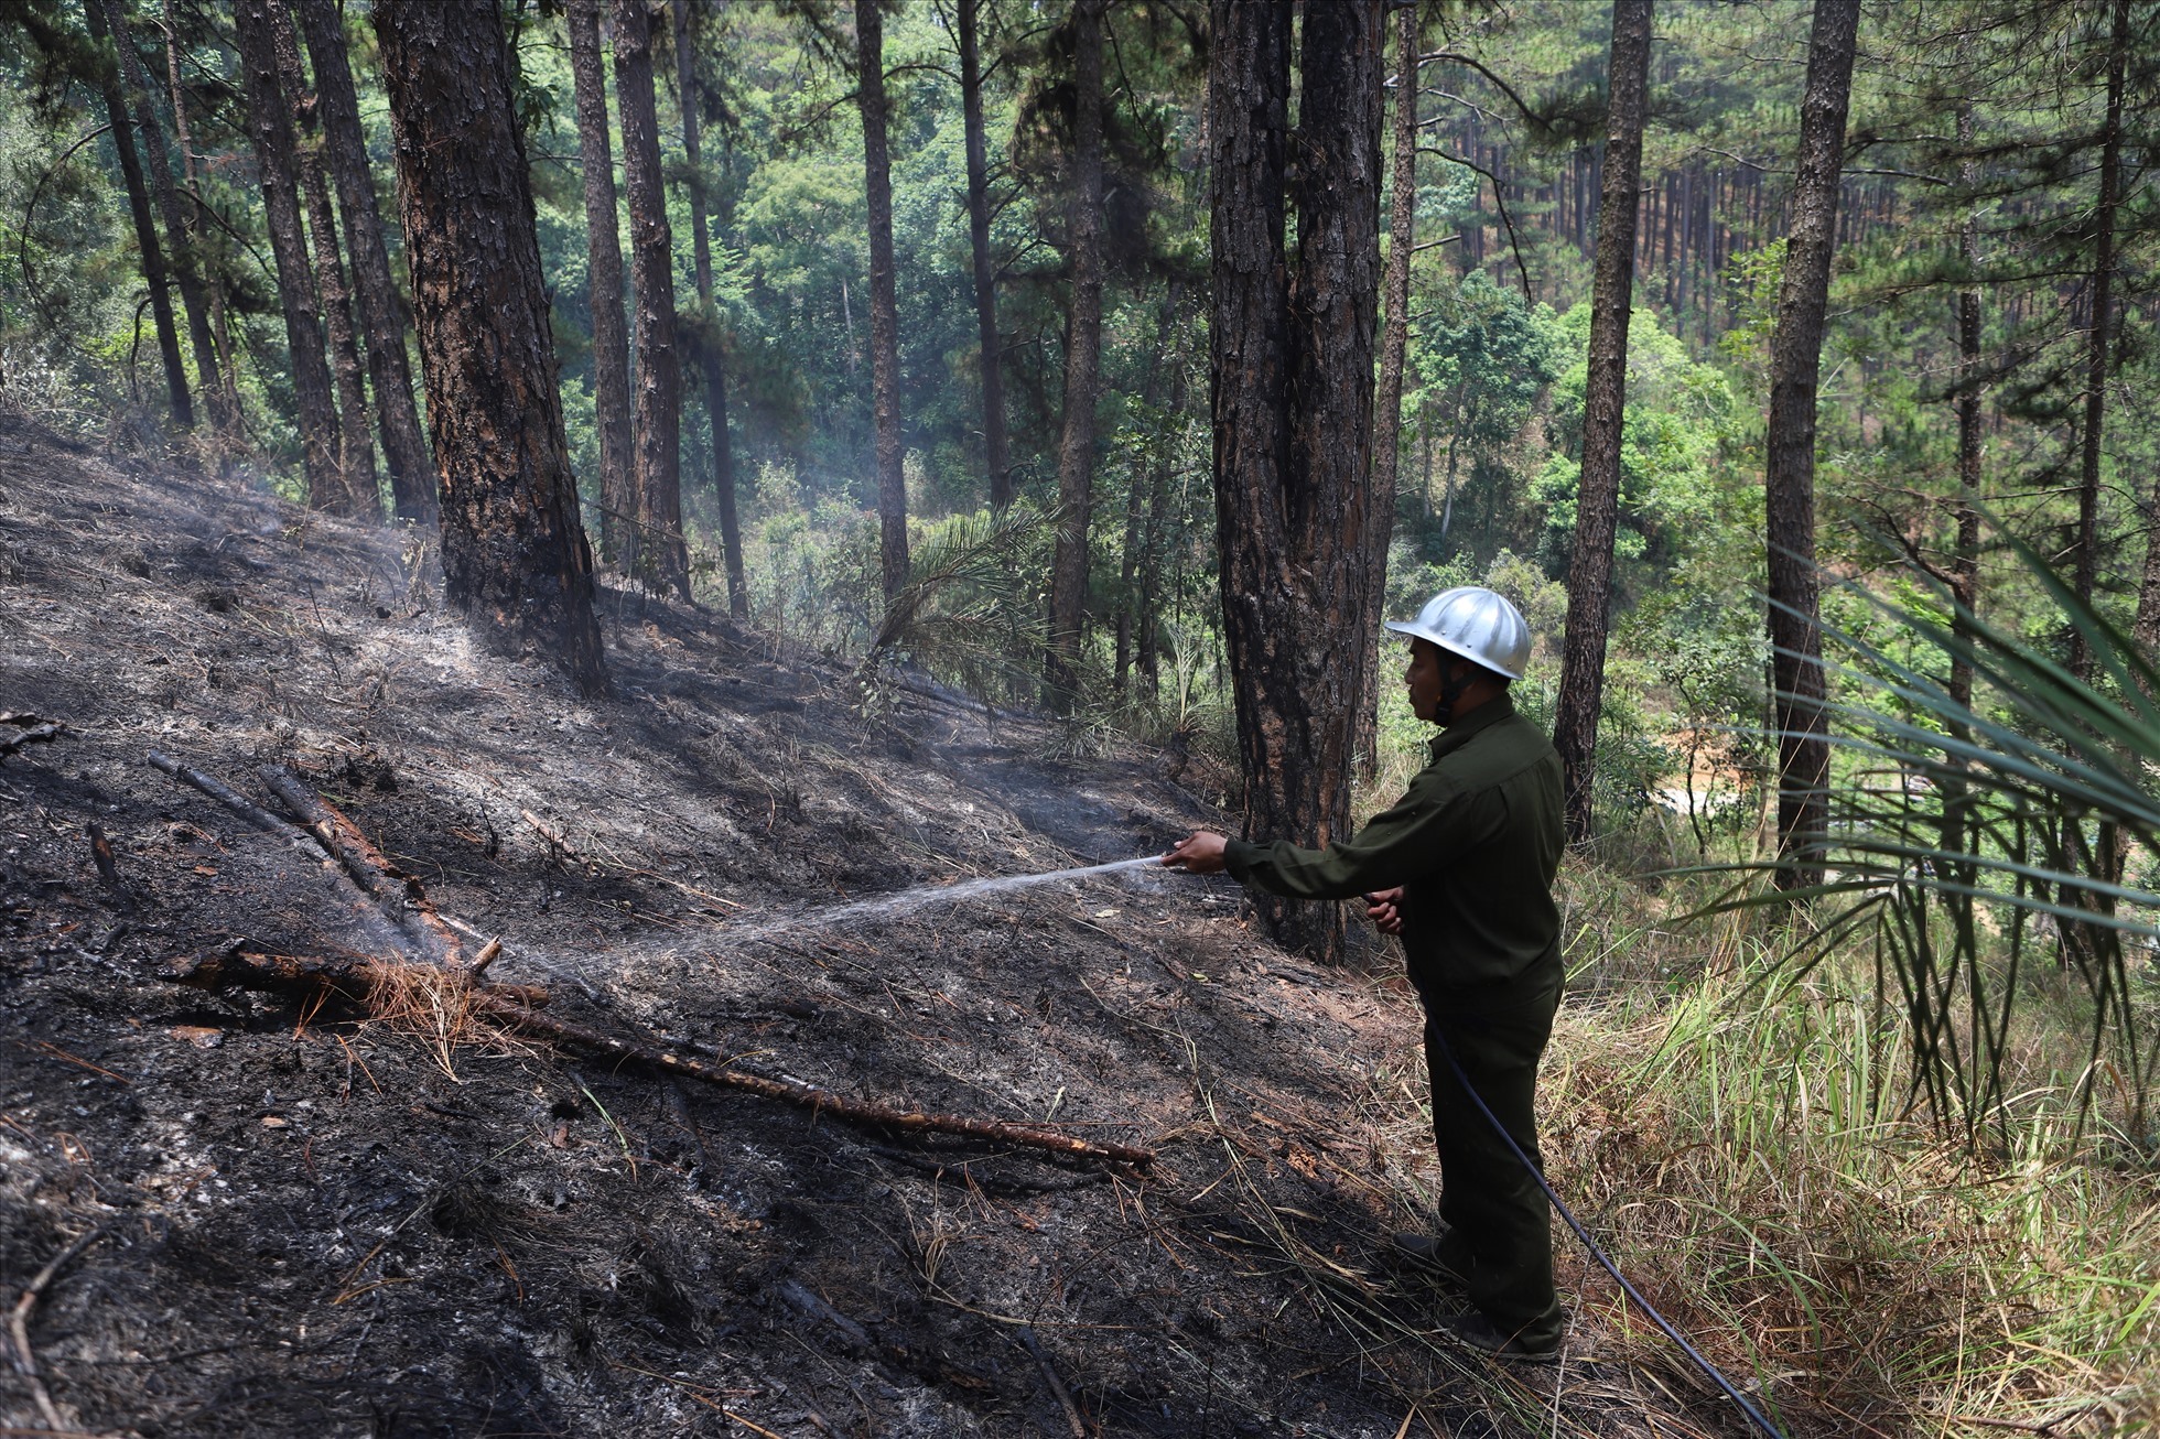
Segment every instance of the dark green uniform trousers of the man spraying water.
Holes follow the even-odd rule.
[[[1432,1139],[1441,1149],[1441,1219],[1449,1225],[1439,1258],[1462,1277],[1471,1303],[1495,1329],[1523,1348],[1547,1348],[1562,1331],[1551,1208],[1538,1180],[1462,1091],[1447,1057],[1454,1054],[1493,1117],[1542,1171],[1538,1059],[1553,1033],[1560,985],[1531,998],[1503,994],[1497,1003],[1447,992],[1421,998]]]

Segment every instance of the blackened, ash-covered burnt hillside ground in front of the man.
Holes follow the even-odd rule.
[[[1415,1000],[1318,972],[1149,756],[888,691],[609,592],[613,694],[497,657],[410,536],[0,417],[0,1307],[99,1435],[1709,1435],[1670,1370],[1432,1342]],[[404,549],[402,549],[404,547]],[[529,1039],[160,979],[365,940],[268,804],[302,774],[551,1013],[1151,1167],[838,1124]],[[1201,784],[1205,789],[1205,784]],[[536,823],[538,821],[538,823]],[[112,847],[93,862],[89,825]],[[32,1277],[86,1238],[43,1288]],[[43,1428],[0,1366],[0,1430]],[[1652,1424],[1655,1417],[1655,1424]]]

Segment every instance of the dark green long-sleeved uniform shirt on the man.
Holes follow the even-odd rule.
[[[1432,741],[1432,763],[1348,845],[1231,840],[1231,875],[1292,899],[1350,899],[1398,884],[1410,981],[1462,992],[1560,985],[1553,873],[1560,756],[1506,694]]]

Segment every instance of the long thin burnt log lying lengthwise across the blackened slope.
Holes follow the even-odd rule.
[[[1153,1149],[1119,1145],[1091,1139],[1074,1139],[1056,1130],[1030,1124],[1009,1124],[1004,1119],[970,1119],[968,1115],[937,1115],[914,1106],[879,1104],[875,1100],[853,1100],[834,1093],[823,1085],[797,1078],[745,1074],[728,1065],[711,1065],[687,1054],[676,1054],[652,1044],[622,1039],[618,1035],[557,1020],[540,1013],[546,992],[531,985],[475,985],[467,972],[436,970],[432,966],[391,964],[365,955],[270,955],[229,944],[186,959],[168,961],[158,970],[160,979],[216,990],[238,985],[244,990],[272,990],[320,994],[333,990],[346,998],[367,1003],[372,996],[393,990],[408,994],[413,985],[454,985],[469,1013],[497,1020],[508,1033],[546,1039],[566,1050],[603,1054],[622,1065],[633,1065],[654,1076],[693,1078],[721,1089],[743,1089],[747,1093],[795,1104],[819,1115],[832,1115],[849,1124],[870,1128],[914,1132],[914,1134],[966,1134],[989,1139],[1024,1149],[1063,1154],[1067,1158],[1104,1160],[1112,1165],[1149,1165]]]

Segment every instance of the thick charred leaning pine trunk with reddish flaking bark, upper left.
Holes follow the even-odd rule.
[[[376,0],[374,24],[443,480],[443,594],[490,642],[531,646],[596,694],[605,670],[592,553],[577,519],[501,13]]]

